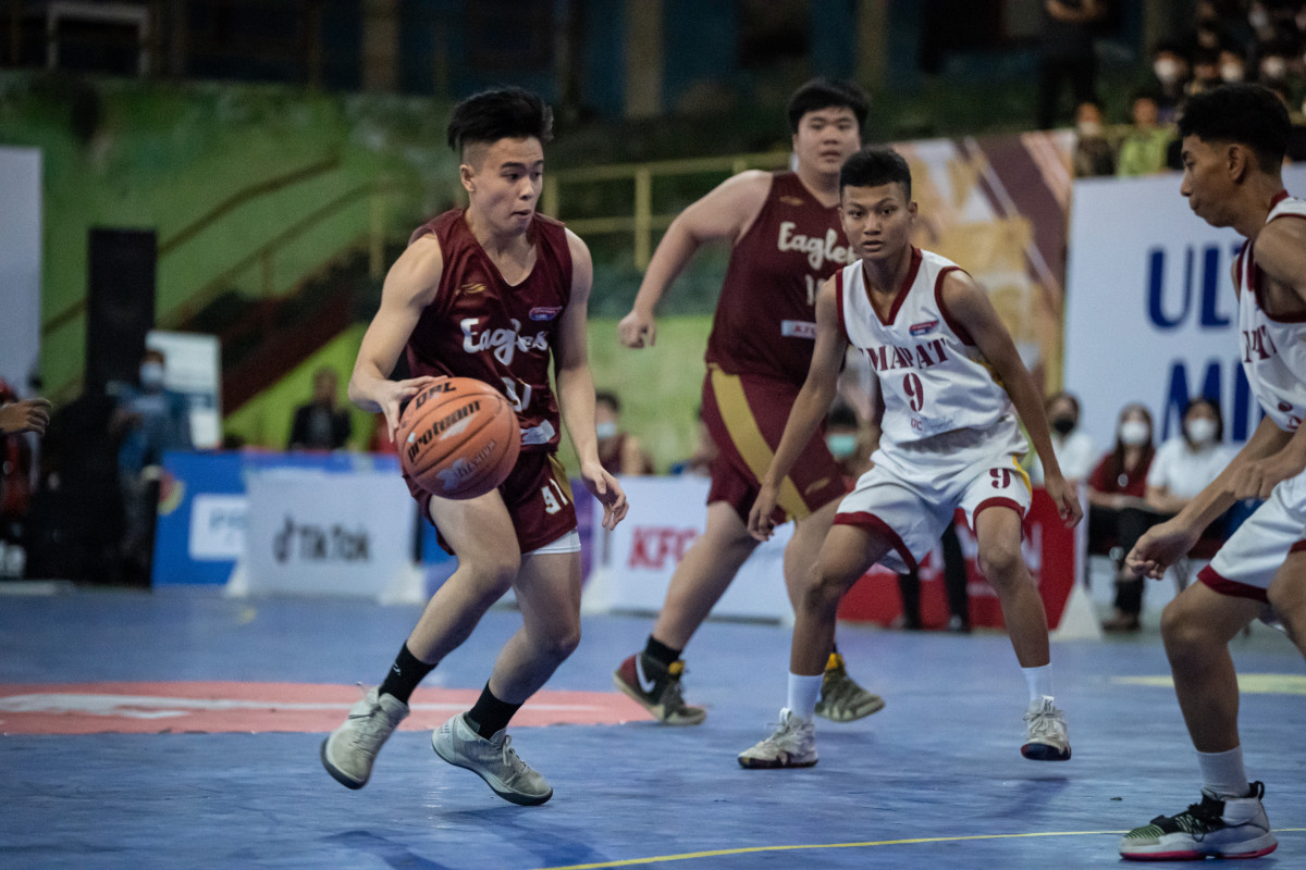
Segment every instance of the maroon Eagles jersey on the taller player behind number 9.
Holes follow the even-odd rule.
[[[757,219],[730,252],[708,363],[802,386],[816,339],[816,287],[853,257],[838,206],[818,202],[795,173],[773,173]]]

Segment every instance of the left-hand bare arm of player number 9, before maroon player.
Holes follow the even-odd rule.
[[[772,457],[771,466],[761,477],[757,498],[748,511],[748,532],[757,540],[767,540],[774,531],[776,524],[771,514],[776,509],[780,481],[789,475],[789,470],[798,460],[798,454],[825,419],[838,389],[838,372],[844,363],[848,339],[838,322],[836,292],[833,278],[821,282],[816,292],[816,346],[812,350],[811,368],[807,369],[803,389],[794,399],[776,455]]]

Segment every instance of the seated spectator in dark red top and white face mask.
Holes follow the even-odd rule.
[[[1143,580],[1124,567],[1124,556],[1160,517],[1148,507],[1147,473],[1152,466],[1152,413],[1138,403],[1121,410],[1115,447],[1088,479],[1088,547],[1106,552],[1115,567],[1115,614],[1102,627],[1136,631],[1143,609]]]

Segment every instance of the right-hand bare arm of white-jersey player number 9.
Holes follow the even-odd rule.
[[[1053,453],[1053,438],[1047,429],[1047,415],[1042,398],[1034,386],[1034,380],[1011,340],[1011,333],[998,317],[989,295],[964,271],[952,271],[943,279],[943,301],[953,317],[970,333],[976,347],[983,353],[1002,381],[1011,403],[1020,415],[1020,421],[1029,433],[1040,462],[1043,464],[1043,488],[1057,505],[1057,513],[1067,526],[1077,523],[1084,510],[1079,497],[1062,476],[1057,455]]]

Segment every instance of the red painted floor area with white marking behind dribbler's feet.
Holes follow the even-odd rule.
[[[329,732],[358,686],[300,682],[84,682],[0,685],[4,734],[210,734]],[[431,729],[468,710],[478,689],[418,689],[406,730]],[[541,691],[513,727],[613,725],[648,713],[618,693]]]

